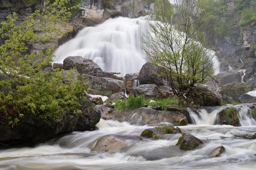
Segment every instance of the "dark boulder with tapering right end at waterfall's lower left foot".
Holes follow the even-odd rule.
[[[69,56],[65,58],[63,61],[63,68],[65,70],[76,68],[80,74],[89,74],[98,77],[120,79],[112,73],[102,71],[98,64],[94,63],[92,60],[85,59],[81,56]]]

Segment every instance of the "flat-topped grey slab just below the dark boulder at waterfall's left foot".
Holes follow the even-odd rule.
[[[89,82],[89,88],[99,91],[123,92],[123,81],[113,78],[96,77],[82,74],[82,77]]]

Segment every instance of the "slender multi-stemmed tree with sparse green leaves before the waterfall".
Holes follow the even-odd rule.
[[[172,5],[168,0],[158,0],[154,11],[157,21],[150,22],[151,32],[143,38],[146,59],[162,68],[179,97],[213,74],[212,56],[196,42],[201,38],[200,15],[196,1],[176,1]]]

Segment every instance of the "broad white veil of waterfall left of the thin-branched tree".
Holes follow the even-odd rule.
[[[93,60],[106,72],[137,73],[146,61],[142,58],[141,36],[147,31],[147,20],[115,18],[96,27],[85,27],[69,42],[55,51],[55,63],[68,56]]]

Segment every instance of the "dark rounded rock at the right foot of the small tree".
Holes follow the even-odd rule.
[[[193,105],[220,106],[220,98],[203,87],[192,88],[187,94],[187,100],[192,102]]]

